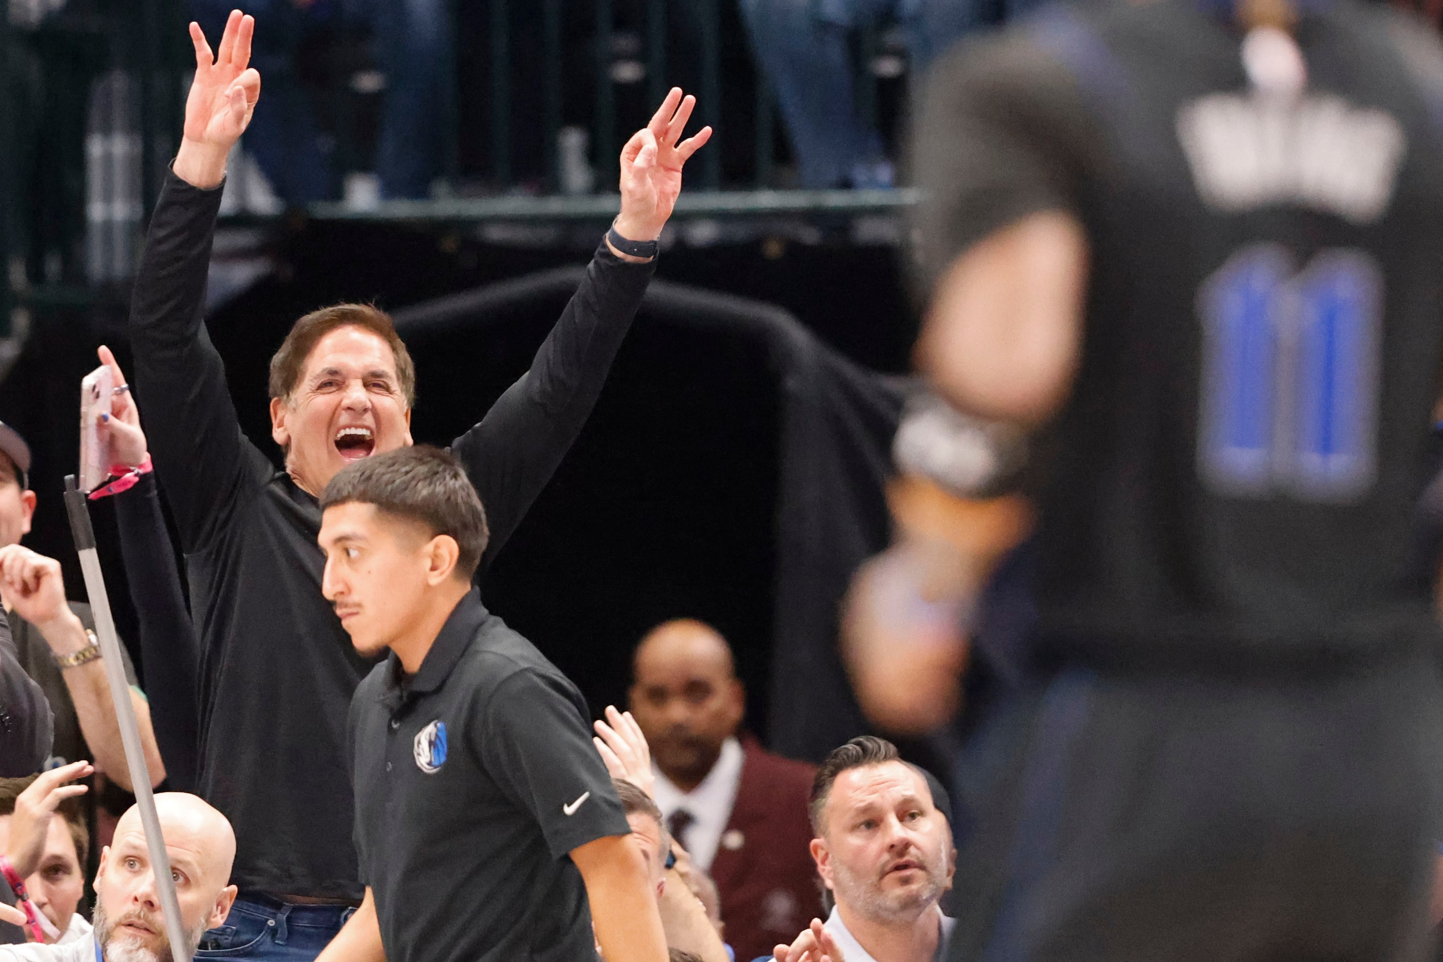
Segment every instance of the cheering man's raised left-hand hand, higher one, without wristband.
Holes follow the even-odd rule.
[[[251,63],[255,17],[232,10],[218,53],[190,23],[195,79],[185,102],[185,130],[176,153],[176,176],[196,187],[225,179],[225,159],[241,138],[261,97],[261,75]]]

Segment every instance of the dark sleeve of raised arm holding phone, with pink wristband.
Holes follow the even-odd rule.
[[[130,600],[140,622],[140,663],[146,666],[144,689],[156,744],[166,763],[166,780],[176,792],[193,792],[201,645],[185,606],[154,475],[143,476],[139,485],[115,495],[115,522]]]

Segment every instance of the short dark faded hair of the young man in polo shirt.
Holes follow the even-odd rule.
[[[336,472],[320,495],[320,509],[375,505],[377,511],[449,535],[460,548],[456,573],[470,580],[486,551],[486,512],[466,469],[450,451],[427,444],[372,454]]]

